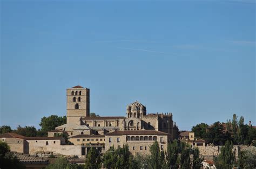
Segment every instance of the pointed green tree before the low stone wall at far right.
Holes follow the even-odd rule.
[[[235,156],[232,151],[233,144],[226,141],[225,146],[221,147],[220,154],[214,159],[217,168],[232,168],[235,163]]]

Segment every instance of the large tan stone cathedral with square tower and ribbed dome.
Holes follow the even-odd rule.
[[[48,135],[68,133],[70,142],[84,147],[82,154],[88,147],[104,152],[111,146],[118,148],[124,144],[131,147],[132,153],[147,153],[147,147],[156,140],[164,150],[167,142],[178,138],[178,127],[171,112],[147,114],[145,105],[138,101],[126,106],[126,117],[90,117],[90,89],[82,86],[66,89],[66,113],[67,123],[49,131]]]

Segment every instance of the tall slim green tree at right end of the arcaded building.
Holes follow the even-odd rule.
[[[177,159],[179,157],[179,144],[177,139],[167,145],[167,166],[169,168],[178,168]]]

